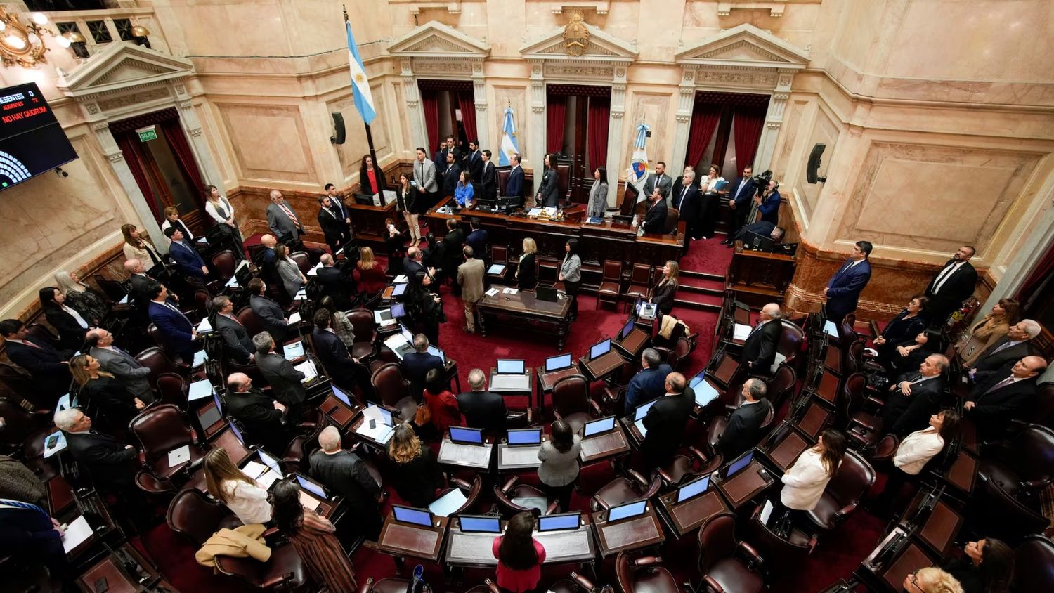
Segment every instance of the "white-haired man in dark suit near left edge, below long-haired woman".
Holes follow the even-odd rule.
[[[106,492],[134,488],[133,461],[139,456],[135,448],[93,431],[92,419],[76,408],[56,412],[55,426],[65,433],[70,454],[87,469],[97,487]]]

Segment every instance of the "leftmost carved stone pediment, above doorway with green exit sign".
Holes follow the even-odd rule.
[[[73,72],[59,70],[58,87],[67,97],[110,94],[150,86],[194,74],[194,64],[132,43],[111,43]]]

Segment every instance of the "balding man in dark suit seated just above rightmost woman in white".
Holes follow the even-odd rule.
[[[897,377],[882,407],[883,432],[903,438],[926,427],[930,416],[940,410],[944,369],[948,358],[931,354],[919,364],[918,372]]]

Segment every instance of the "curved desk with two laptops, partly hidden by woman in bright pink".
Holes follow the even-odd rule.
[[[578,529],[563,531],[535,531],[533,537],[545,547],[544,565],[566,565],[592,562],[597,558],[593,543],[592,525],[589,516],[582,515],[583,522]],[[492,546],[497,534],[464,533],[458,528],[458,519],[453,518],[447,530],[444,561],[451,567],[489,568],[497,566]],[[502,532],[508,521],[502,521]]]

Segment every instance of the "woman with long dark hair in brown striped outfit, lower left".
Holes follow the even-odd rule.
[[[333,592],[358,590],[355,569],[334,535],[336,528],[325,517],[304,512],[299,485],[293,480],[275,482],[272,514],[316,584]]]

